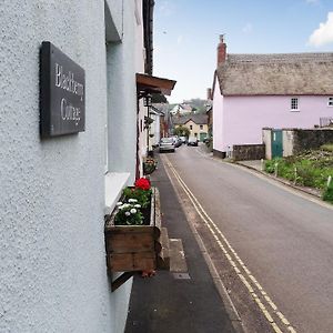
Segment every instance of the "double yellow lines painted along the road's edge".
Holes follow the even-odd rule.
[[[178,180],[179,184],[181,185],[181,188],[183,189],[183,191],[188,195],[189,200],[191,201],[192,205],[196,210],[198,214],[200,215],[202,221],[205,223],[205,225],[208,226],[208,229],[212,233],[213,238],[216,240],[216,243],[219,244],[220,249],[224,253],[224,255],[228,259],[229,263],[234,269],[236,275],[240,278],[242,283],[248,289],[249,293],[251,294],[251,296],[253,297],[253,300],[258,304],[258,306],[261,310],[261,312],[263,313],[263,315],[266,317],[268,322],[271,324],[272,329],[276,333],[282,333],[283,332],[283,331],[281,331],[280,326],[273,320],[270,311],[263,304],[262,300],[255,294],[255,292],[253,290],[253,285],[254,285],[255,289],[258,289],[260,294],[263,296],[263,301],[272,309],[273,313],[280,319],[281,323],[285,326],[285,329],[290,332],[296,333],[295,329],[290,324],[290,322],[286,320],[286,317],[279,311],[278,306],[273,303],[271,297],[266,294],[266,292],[263,290],[261,284],[256,281],[256,279],[253,276],[251,271],[246,268],[244,262],[240,259],[240,256],[238,255],[235,250],[231,246],[231,244],[229,243],[229,241],[226,240],[224,234],[221,232],[221,230],[218,228],[215,222],[209,216],[209,214],[202,208],[202,205],[200,204],[200,202],[198,201],[195,195],[188,188],[188,185],[182,180],[180,174],[176,172],[175,168],[170,162],[170,160],[165,155],[161,157],[161,159],[162,159],[162,162],[164,164],[167,164],[168,168],[172,171],[174,178]],[[167,173],[168,173],[168,171],[167,171]],[[169,173],[168,173],[168,176],[170,178]],[[223,243],[221,242],[219,236],[222,239],[222,241],[224,242],[225,245],[223,245]],[[232,259],[232,255],[230,253],[232,253],[232,255],[234,256],[235,260]],[[241,266],[241,269],[244,271],[245,276],[244,276],[244,274],[242,274],[239,266]],[[250,280],[250,282],[249,282],[249,280]],[[252,285],[251,285],[251,282],[252,282]]]

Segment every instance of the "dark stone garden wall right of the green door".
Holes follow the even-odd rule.
[[[293,130],[293,154],[333,143],[333,129]]]

